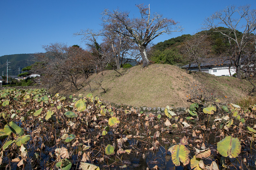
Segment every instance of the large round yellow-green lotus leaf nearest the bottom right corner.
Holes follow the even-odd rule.
[[[217,143],[217,150],[224,157],[235,158],[241,152],[241,144],[238,138],[227,136]]]

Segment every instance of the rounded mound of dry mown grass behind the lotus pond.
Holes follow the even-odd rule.
[[[152,64],[146,69],[135,66],[120,72],[123,76],[114,70],[93,74],[85,81],[85,84],[90,82],[91,87],[86,85],[76,94],[92,93],[104,101],[135,107],[186,107],[191,104],[187,101],[189,98],[201,98],[200,94],[210,100],[218,98],[221,103],[235,102],[246,97],[252,88],[246,80],[201,72],[186,74],[185,70],[168,64]],[[96,82],[101,82],[106,93],[102,89],[90,91],[100,88]]]

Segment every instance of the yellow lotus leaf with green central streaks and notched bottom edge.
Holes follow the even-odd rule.
[[[185,145],[175,145],[171,151],[171,159],[172,162],[179,166],[180,162],[183,163],[183,165],[187,165],[189,163],[189,150],[185,147]]]

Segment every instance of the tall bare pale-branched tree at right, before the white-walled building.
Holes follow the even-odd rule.
[[[256,29],[256,10],[251,10],[250,5],[236,7],[227,6],[224,10],[217,11],[205,18],[205,29],[212,29],[228,38],[229,50],[236,67],[237,78],[241,79],[242,62],[245,48],[250,43]],[[227,26],[228,30],[219,29],[219,26]],[[239,32],[241,31],[241,32]]]

